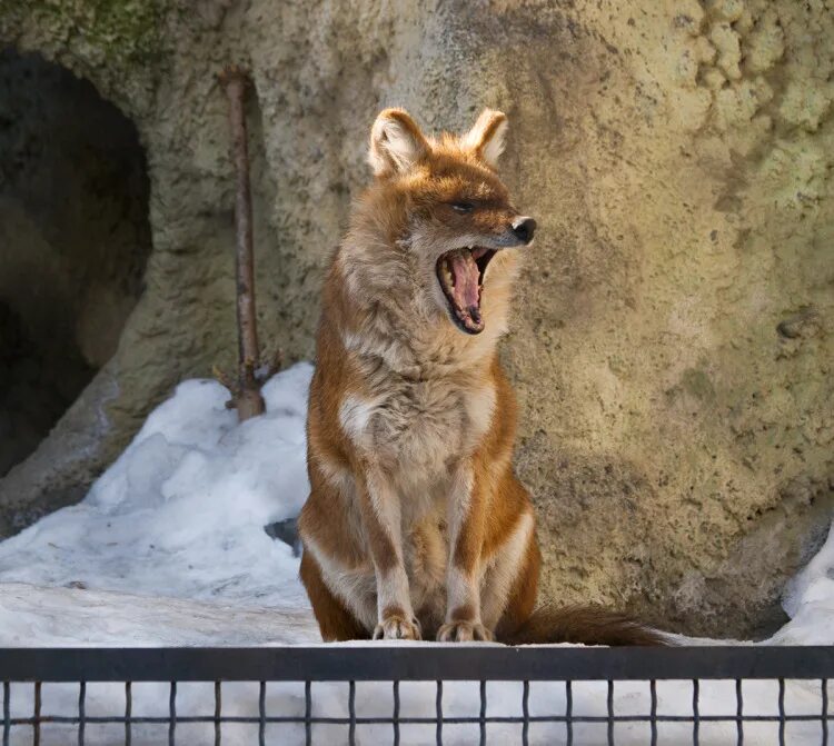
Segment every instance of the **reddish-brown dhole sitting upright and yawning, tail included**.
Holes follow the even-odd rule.
[[[370,187],[322,289],[300,575],[325,640],[661,644],[592,607],[536,607],[540,555],[513,470],[497,355],[536,220],[497,173],[507,118],[370,131]]]

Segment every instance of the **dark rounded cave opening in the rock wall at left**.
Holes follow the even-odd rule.
[[[0,50],[0,478],[116,351],[148,198],[132,121],[66,68]]]

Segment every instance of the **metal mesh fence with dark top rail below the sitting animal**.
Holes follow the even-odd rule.
[[[834,647],[11,648],[0,724],[44,746],[827,745],[832,678]]]

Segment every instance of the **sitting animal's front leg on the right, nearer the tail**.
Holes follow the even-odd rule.
[[[456,469],[449,494],[446,623],[437,631],[437,639],[444,643],[493,639],[493,633],[480,618],[485,508],[471,465],[461,464]]]

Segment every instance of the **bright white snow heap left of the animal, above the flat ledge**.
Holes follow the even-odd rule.
[[[298,559],[264,526],[309,491],[311,374],[274,377],[267,414],[242,425],[217,381],[180,384],[82,503],[0,544],[0,583],[306,607]]]

